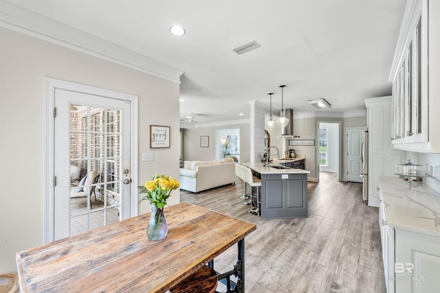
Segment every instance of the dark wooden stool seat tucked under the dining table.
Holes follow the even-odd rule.
[[[170,289],[170,293],[214,293],[217,289],[217,273],[210,266],[203,266]]]

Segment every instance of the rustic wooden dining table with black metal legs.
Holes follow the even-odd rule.
[[[245,236],[255,224],[193,204],[164,208],[168,235],[146,237],[150,213],[17,253],[21,292],[166,292],[237,244],[235,292],[244,292]],[[229,283],[229,281],[228,281]]]

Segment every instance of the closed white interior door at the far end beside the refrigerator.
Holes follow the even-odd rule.
[[[364,127],[347,128],[347,181],[362,183],[361,145],[364,130]]]

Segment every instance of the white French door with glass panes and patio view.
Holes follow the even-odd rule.
[[[130,218],[131,103],[56,89],[54,105],[54,239]]]

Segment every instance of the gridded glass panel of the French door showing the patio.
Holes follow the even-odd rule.
[[[72,104],[70,109],[70,235],[75,235],[120,220],[120,110]]]

